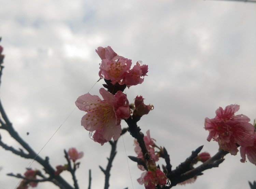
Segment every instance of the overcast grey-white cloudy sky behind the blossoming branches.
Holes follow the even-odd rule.
[[[1,101],[15,129],[36,152],[75,108],[77,97],[99,79],[98,46],[111,46],[133,64],[141,60],[148,65],[144,82],[125,92],[130,102],[142,95],[146,104],[154,105],[138,125],[143,133],[150,129],[157,145],[166,147],[174,168],[200,145],[212,155],[217,152],[217,142],[206,140],[203,127],[204,118],[213,118],[219,106],[239,104],[238,114],[251,123],[256,118],[256,3],[0,0],[0,7],[5,54]],[[96,83],[90,93],[99,95],[103,83]],[[92,169],[92,188],[101,189],[104,174],[98,165],[106,166],[110,145],[89,138],[80,123],[83,115],[76,108],[40,156],[49,156],[55,167],[66,163],[63,149],[83,151],[76,174],[80,188],[87,188]],[[20,147],[6,132],[0,134],[8,145]],[[126,158],[136,156],[133,149],[129,133],[118,140],[111,189],[144,188],[136,181],[142,171]],[[219,168],[176,188],[249,188],[256,167],[240,158],[239,153],[229,154]],[[6,173],[24,173],[29,162],[0,148],[0,188],[15,188],[19,180]],[[31,167],[42,170],[36,162]],[[72,184],[68,173],[62,175]],[[40,183],[37,188],[57,187]]]

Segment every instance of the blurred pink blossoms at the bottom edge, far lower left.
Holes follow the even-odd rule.
[[[36,176],[38,174],[38,170],[32,170],[32,169],[28,169],[25,173],[24,176],[25,178],[29,179],[29,180],[36,180]],[[37,187],[37,182],[29,182],[26,179],[23,179],[19,186],[17,187],[17,189],[28,189],[29,186],[33,187]]]

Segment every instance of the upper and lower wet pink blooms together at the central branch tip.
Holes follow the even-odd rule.
[[[148,69],[147,65],[140,65],[137,62],[130,69],[131,60],[118,56],[110,46],[98,47],[96,52],[101,58],[99,76],[105,81],[111,81],[109,84],[116,85],[118,83],[130,87],[144,81]],[[105,85],[103,86],[106,87]],[[132,113],[126,94],[121,90],[112,93],[101,88],[100,95],[103,100],[99,96],[87,93],[77,98],[75,102],[80,110],[87,112],[82,117],[81,125],[87,131],[94,132],[93,140],[101,145],[112,138],[117,140],[120,137],[121,119],[128,119]],[[150,106],[151,109],[152,107]]]

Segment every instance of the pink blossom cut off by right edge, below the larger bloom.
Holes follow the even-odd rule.
[[[246,161],[245,155],[247,155],[248,160],[256,165],[256,133],[254,134],[254,144],[253,146],[249,147],[240,147],[240,154],[242,159],[240,160],[241,162]]]

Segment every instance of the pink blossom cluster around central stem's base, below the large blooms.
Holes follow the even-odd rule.
[[[141,174],[141,177],[137,179],[140,184],[144,184],[146,189],[155,189],[156,185],[166,185],[167,177],[165,174],[156,167],[156,161],[159,159],[159,152],[155,152],[155,147],[161,150],[161,148],[157,147],[155,144],[155,139],[150,137],[150,130],[147,130],[146,136],[144,136],[144,142],[146,145],[146,149],[150,155],[150,161],[145,161],[139,143],[136,139],[134,139],[134,151],[137,154],[137,158],[140,158],[144,161],[147,170],[145,171],[144,166],[138,165],[138,168],[142,171],[145,171]]]

